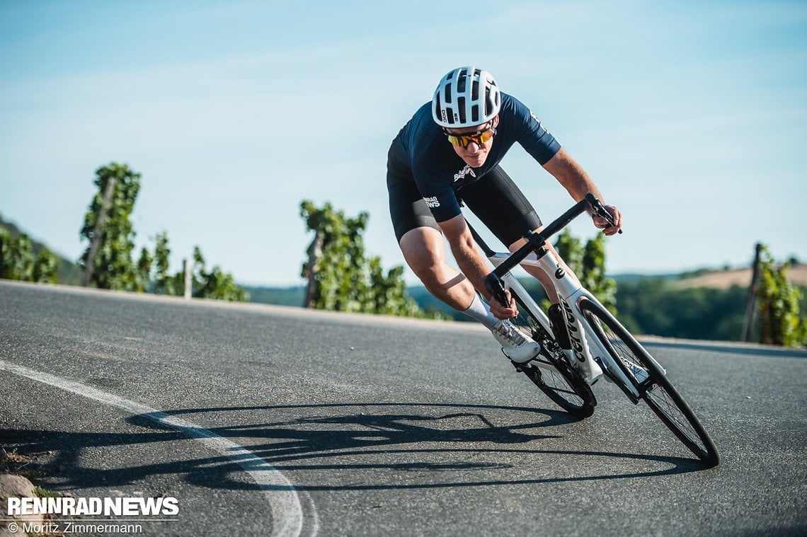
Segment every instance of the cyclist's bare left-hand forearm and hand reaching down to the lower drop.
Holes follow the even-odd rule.
[[[470,228],[466,223],[465,217],[458,214],[453,219],[445,220],[439,223],[443,235],[449,241],[451,253],[454,255],[454,260],[457,261],[460,271],[468,278],[474,288],[479,291],[483,297],[487,298],[490,306],[491,313],[496,318],[512,318],[518,314],[514,307],[506,307],[491,298],[487,289],[485,289],[485,277],[491,273],[490,265],[487,259],[476,248],[473,235],[470,234]],[[512,299],[511,299],[512,302]]]

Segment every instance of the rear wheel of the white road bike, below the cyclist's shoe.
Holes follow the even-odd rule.
[[[575,418],[590,417],[594,414],[594,407],[597,404],[592,387],[562,357],[563,354],[558,343],[541,327],[518,294],[513,289],[510,289],[510,293],[519,305],[518,317],[510,319],[511,322],[525,335],[529,335],[534,341],[540,343],[543,349],[539,356],[527,364],[513,362],[516,370],[524,373],[538,389],[546,393],[547,397]],[[551,364],[558,370],[558,373],[539,367],[535,364],[536,361]]]

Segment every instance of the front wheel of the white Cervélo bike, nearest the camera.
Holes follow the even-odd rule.
[[[642,344],[638,343],[617,318],[600,304],[583,300],[579,306],[597,338],[600,339],[600,343],[611,353],[623,373],[633,381],[647,406],[650,406],[667,428],[704,464],[708,466],[720,464],[720,454],[703,423],[700,423],[692,408],[684,401],[667,374],[658,367]],[[648,378],[638,381],[621,358],[628,360],[631,368],[638,365],[645,369]]]

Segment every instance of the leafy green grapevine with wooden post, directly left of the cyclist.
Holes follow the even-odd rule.
[[[378,257],[366,258],[364,239],[369,215],[345,216],[328,202],[300,203],[308,231],[314,231],[301,276],[308,279],[304,306],[320,310],[443,318],[427,314],[406,293],[403,267],[384,273]]]

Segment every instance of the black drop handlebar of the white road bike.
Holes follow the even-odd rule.
[[[593,214],[604,218],[611,226],[614,225],[613,216],[608,210],[605,210],[603,202],[589,192],[586,194],[585,198],[575,203],[571,209],[561,214],[554,222],[544,227],[541,231],[529,231],[529,233],[525,235],[527,244],[516,250],[516,252],[513,252],[502,264],[485,277],[485,289],[487,289],[487,292],[491,293],[491,296],[499,301],[500,304],[507,305],[507,294],[504,291],[504,285],[501,280],[504,274],[510,272],[513,267],[521,263],[526,256],[529,256],[529,254],[541,248],[546,242],[546,239],[549,239],[552,235],[555,235],[564,227],[567,227],[572,220],[576,219],[587,210],[592,210]],[[619,232],[621,233],[622,230],[619,230]]]

